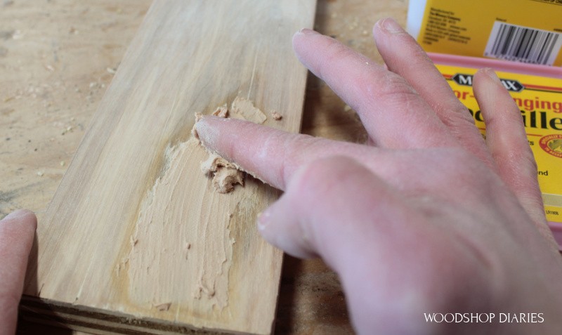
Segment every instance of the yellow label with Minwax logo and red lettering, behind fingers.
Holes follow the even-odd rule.
[[[471,87],[476,69],[436,66],[485,136],[485,124]],[[510,72],[497,72],[497,75],[521,110],[529,145],[537,161],[547,219],[562,223],[562,79]]]

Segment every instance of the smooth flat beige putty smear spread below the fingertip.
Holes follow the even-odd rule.
[[[166,147],[162,170],[139,204],[129,246],[115,268],[126,301],[141,306],[138,313],[148,317],[177,322],[178,315],[193,310],[213,306],[214,313],[222,313],[228,306],[235,242],[230,221],[209,221],[210,214],[201,210],[197,216],[195,208],[185,205],[207,189],[206,181],[186,173],[204,159],[199,145],[190,138]],[[171,280],[170,268],[185,278]]]

